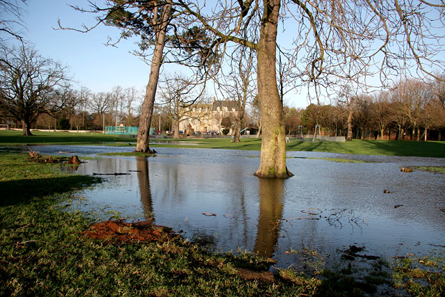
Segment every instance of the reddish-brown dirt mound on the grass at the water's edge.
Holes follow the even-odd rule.
[[[169,227],[154,225],[149,221],[125,223],[124,220],[105,220],[94,223],[84,234],[94,239],[117,244],[166,241],[175,236]]]

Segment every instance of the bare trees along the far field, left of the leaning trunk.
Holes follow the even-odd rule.
[[[136,88],[114,87],[92,93],[74,88],[67,68],[44,58],[32,47],[0,52],[0,122],[42,129],[103,129],[104,125],[137,125],[141,95]]]

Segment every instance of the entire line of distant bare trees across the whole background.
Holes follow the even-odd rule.
[[[183,116],[180,106],[201,103],[196,98],[206,97],[193,88],[183,77],[161,81],[152,127],[176,131]],[[115,86],[99,93],[74,88],[65,67],[25,46],[1,49],[0,95],[0,122],[16,126],[21,122],[24,134],[31,134],[31,125],[78,130],[135,126],[142,100],[136,88]],[[238,101],[240,96],[233,97]],[[242,119],[221,119],[222,127],[261,129],[256,97],[250,97],[250,109],[243,112]],[[306,109],[284,106],[284,119],[287,134],[296,134],[299,126],[311,133],[318,124],[331,136],[348,136],[350,132],[349,138],[440,140],[445,128],[444,106],[444,81],[406,79],[391,90],[371,95],[352,95],[350,88],[343,88],[332,104],[310,104]]]

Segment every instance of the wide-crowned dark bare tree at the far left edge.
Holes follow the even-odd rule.
[[[0,55],[0,106],[22,121],[23,135],[32,135],[38,115],[60,104],[54,90],[67,83],[65,67],[29,47],[2,49]]]

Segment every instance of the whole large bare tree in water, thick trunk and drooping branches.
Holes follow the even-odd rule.
[[[434,75],[426,64],[445,67],[436,56],[445,44],[437,40],[444,36],[435,30],[444,27],[444,3],[218,0],[209,8],[207,1],[178,2],[193,18],[191,22],[199,22],[221,42],[235,42],[257,52],[263,129],[259,177],[291,175],[286,168],[283,106],[275,71],[277,29],[288,24],[286,20],[296,32],[291,38],[293,59],[288,61],[293,61],[296,80],[307,86],[341,81],[366,85],[373,74],[380,74],[385,83],[404,69]]]

